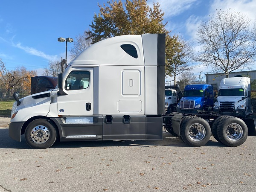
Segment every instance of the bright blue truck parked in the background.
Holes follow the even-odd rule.
[[[179,113],[212,111],[214,105],[213,87],[209,84],[190,84],[184,88],[183,97],[177,105]]]

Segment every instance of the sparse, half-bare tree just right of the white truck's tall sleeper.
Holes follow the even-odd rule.
[[[174,76],[174,84],[176,84],[176,77],[186,71],[192,70],[192,66],[189,64],[194,57],[194,49],[192,44],[185,41],[179,36],[174,36],[176,41],[172,42],[173,52],[171,57],[166,61],[166,75]],[[168,54],[168,51],[167,51]]]

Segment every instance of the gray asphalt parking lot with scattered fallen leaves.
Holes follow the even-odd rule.
[[[31,149],[9,138],[0,117],[0,192],[254,192],[256,137],[227,147],[213,137],[200,148],[163,141],[55,143]]]

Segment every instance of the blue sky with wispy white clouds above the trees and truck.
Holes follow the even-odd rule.
[[[216,9],[235,9],[253,22],[256,20],[256,0],[154,0],[157,1],[165,12],[167,28],[187,41],[195,41],[201,20],[214,15]],[[147,2],[152,5],[153,0]],[[65,43],[57,39],[70,37],[76,41],[76,36],[89,28],[94,13],[99,13],[98,3],[103,5],[107,0],[1,1],[0,58],[7,70],[24,66],[42,75],[49,60],[65,58]],[[72,46],[68,43],[68,50]]]

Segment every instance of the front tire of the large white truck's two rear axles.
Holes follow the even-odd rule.
[[[209,123],[197,116],[186,116],[180,123],[180,137],[192,147],[205,145],[211,137]]]

